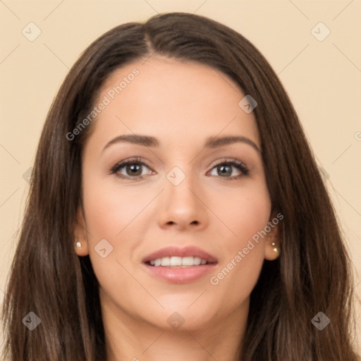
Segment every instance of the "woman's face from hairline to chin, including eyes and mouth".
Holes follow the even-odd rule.
[[[160,56],[102,87],[75,231],[104,312],[195,329],[247,309],[277,226],[243,97],[224,73]]]

